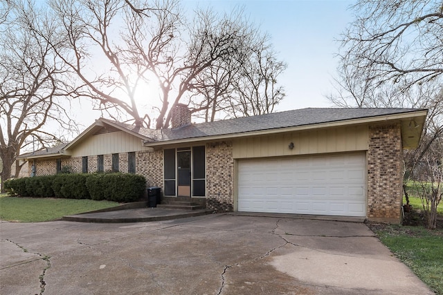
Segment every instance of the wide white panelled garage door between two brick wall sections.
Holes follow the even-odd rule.
[[[238,161],[238,211],[366,216],[365,153]]]

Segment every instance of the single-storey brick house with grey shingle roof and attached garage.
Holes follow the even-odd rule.
[[[401,220],[403,149],[415,148],[427,111],[305,108],[191,124],[184,105],[172,129],[100,118],[69,144],[21,155],[47,175],[144,175],[166,199],[217,211],[361,216]],[[30,169],[31,171],[32,169]]]

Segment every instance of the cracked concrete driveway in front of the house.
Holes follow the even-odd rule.
[[[433,294],[363,223],[1,222],[0,294]]]

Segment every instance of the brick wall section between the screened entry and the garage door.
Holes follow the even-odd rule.
[[[206,144],[206,207],[233,211],[234,160],[231,141]]]

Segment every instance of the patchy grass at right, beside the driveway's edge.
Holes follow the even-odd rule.
[[[443,229],[372,225],[381,242],[436,294],[443,294]],[[413,290],[411,290],[413,292]]]

